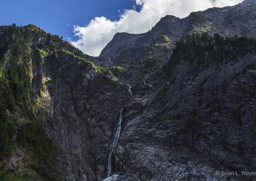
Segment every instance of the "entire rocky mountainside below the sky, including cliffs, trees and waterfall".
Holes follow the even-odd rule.
[[[253,180],[255,5],[166,16],[100,57],[1,26],[0,180]]]

